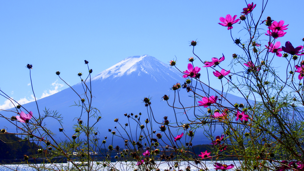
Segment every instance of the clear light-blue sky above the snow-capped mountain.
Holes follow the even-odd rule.
[[[304,2],[292,2],[270,0],[261,19],[285,20],[287,34],[278,41],[299,46],[304,37],[300,20]],[[254,3],[257,20],[262,1]],[[77,73],[88,72],[84,60],[90,62],[94,75],[128,56],[143,54],[164,63],[176,56],[178,67],[185,70],[187,59],[193,56],[189,41],[196,39],[195,52],[203,60],[220,58],[223,53],[226,61],[221,66],[227,67],[232,54],[240,50],[232,43],[227,27],[218,24],[219,17],[239,17],[246,6],[242,0],[1,1],[0,89],[16,100],[30,101],[33,92],[25,68],[28,63],[33,65],[38,99],[67,88],[56,71],[70,85],[80,82]],[[247,38],[238,32],[242,26],[233,25],[234,38]],[[276,61],[278,66],[280,60]],[[214,87],[220,89],[219,84]],[[5,100],[0,98],[0,108],[5,107]]]

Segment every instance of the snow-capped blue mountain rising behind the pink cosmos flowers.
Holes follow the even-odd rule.
[[[162,97],[166,94],[170,97],[168,103],[172,105],[174,101],[174,91],[170,88],[177,82],[181,84],[185,82],[182,75],[181,72],[171,68],[168,64],[164,64],[152,56],[143,55],[125,58],[116,65],[113,65],[92,77],[92,106],[97,108],[102,116],[102,119],[95,124],[95,126],[98,127],[97,130],[100,141],[102,141],[105,136],[107,136],[108,141],[110,141],[109,137],[112,138],[112,134],[108,129],[116,131],[116,134],[119,136],[126,136],[123,128],[118,123],[114,122],[114,119],[118,118],[119,123],[123,125],[123,127],[125,123],[129,123],[127,117],[124,116],[125,113],[134,113],[134,115],[142,113],[140,121],[144,125],[144,120],[150,118],[149,120],[153,123],[153,130],[156,130],[156,133],[160,133],[160,131],[158,131],[160,124],[156,124],[154,119],[157,122],[162,123],[164,120],[163,117],[168,116],[170,123],[176,123],[176,118],[178,122],[184,121],[187,123],[188,119],[185,113],[183,113],[184,111],[179,111],[180,113],[174,114],[174,110],[168,106],[166,101],[162,100]],[[85,95],[82,94],[84,88],[81,82],[73,85],[72,88],[79,93],[81,98],[85,97]],[[206,89],[208,88],[206,87]],[[212,90],[210,90],[210,94],[215,95],[215,92],[211,91]],[[181,89],[178,93],[182,99],[181,103],[184,106],[193,105],[193,97],[189,97],[190,94],[187,93],[185,89]],[[150,97],[151,99],[151,108],[154,118],[150,117],[150,114],[148,114],[150,113],[150,110],[144,106],[145,103],[143,103],[143,99],[145,97]],[[233,103],[244,103],[242,98],[231,94],[228,94],[227,98],[233,99]],[[64,89],[56,94],[37,100],[40,113],[43,109],[56,110],[63,117],[62,126],[54,119],[49,119],[45,122],[45,127],[51,128],[50,130],[56,134],[55,136],[57,139],[60,139],[60,134],[62,134],[58,131],[58,128],[63,127],[65,134],[71,137],[75,134],[74,124],[77,124],[77,119],[80,116],[81,120],[86,123],[85,120],[87,119],[87,116],[85,116],[84,113],[81,115],[81,107],[73,106],[75,103],[81,104],[81,101],[79,101],[79,96],[71,88]],[[174,105],[177,107],[181,106],[178,99],[175,99]],[[226,105],[230,104],[226,103]],[[27,103],[22,106],[28,111],[33,111],[35,117],[38,116],[35,102]],[[201,112],[205,112],[206,108],[203,108],[204,107],[201,107],[201,109],[199,109],[196,107],[196,115],[204,115],[204,113]],[[189,111],[189,119],[194,119],[195,116],[192,109]],[[4,114],[7,115],[6,117],[11,117],[11,113],[6,112]],[[90,125],[97,121],[96,118],[91,118],[90,120]],[[12,124],[4,122],[3,125],[7,126]],[[16,130],[16,127],[7,127],[8,132],[14,132],[14,130]],[[115,129],[115,127],[117,127],[117,129]],[[137,132],[140,132],[140,128],[135,122],[130,123],[126,128],[129,131],[137,130]],[[177,130],[176,128],[171,129],[173,130],[174,136],[183,132],[183,130]],[[216,132],[220,133],[219,130],[215,130],[215,133]],[[124,145],[123,139],[119,136],[113,137],[114,146]],[[185,140],[185,142],[188,141],[188,139]],[[203,135],[203,129],[197,129],[192,143],[209,144],[210,140]]]

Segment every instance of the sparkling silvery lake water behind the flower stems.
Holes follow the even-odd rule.
[[[135,162],[133,162],[133,165],[134,165]],[[210,171],[215,171],[214,166],[213,166],[214,163],[211,163],[210,161],[208,162],[205,162],[205,161],[202,161],[202,165],[206,165],[206,167],[210,170]],[[238,163],[233,163],[233,161],[223,161],[221,162],[221,164],[226,164],[226,165],[230,165],[230,164],[233,164],[233,165],[239,165]],[[47,168],[53,168],[55,170],[59,170],[59,169],[64,169],[66,170],[67,167],[68,167],[68,163],[63,163],[63,164],[46,164],[46,167]],[[132,168],[132,163],[131,162],[112,162],[111,163],[112,166],[115,165],[116,169],[120,170],[120,171],[133,171],[134,168]],[[165,169],[169,169],[170,166],[168,166],[168,163],[167,162],[156,162],[156,165],[158,166],[158,168],[161,170],[161,171],[164,171]],[[170,163],[171,167],[174,168],[172,165],[174,165],[174,162]],[[195,168],[195,163],[193,162],[190,162],[189,163],[190,167],[191,167],[191,171],[197,171],[198,169]],[[38,165],[40,166],[40,165]],[[188,166],[188,162],[181,162],[180,163],[180,168],[179,169],[182,169],[185,171],[186,167]],[[83,167],[83,166],[82,166]],[[104,168],[102,166],[102,164],[100,165],[97,165],[96,162],[94,162],[93,164],[93,167],[96,168],[96,169],[93,169],[93,170],[100,170],[100,171],[106,171],[107,168]],[[137,166],[135,166],[137,167]],[[11,169],[10,169],[11,168]],[[71,164],[70,164],[70,168],[71,168]],[[35,171],[37,169],[33,168],[33,167],[29,167],[28,165],[26,164],[22,164],[22,165],[2,165],[0,166],[0,170],[1,171],[12,171],[12,169],[14,170],[18,170],[18,171]],[[234,166],[233,169],[230,169],[231,171],[235,170],[236,169],[236,166]],[[43,169],[41,168],[40,169],[41,171],[43,170],[47,170],[47,169]],[[81,169],[81,170],[85,170],[84,168]],[[173,169],[172,169],[173,170]],[[178,170],[178,169],[176,169]]]

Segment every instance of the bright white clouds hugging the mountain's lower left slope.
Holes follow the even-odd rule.
[[[42,99],[42,98],[44,98],[44,97],[47,97],[47,96],[50,96],[50,95],[53,95],[53,94],[59,92],[59,89],[60,89],[61,87],[63,87],[64,84],[60,84],[60,83],[58,83],[57,81],[58,81],[58,80],[56,80],[55,82],[52,83],[52,85],[54,86],[54,89],[49,90],[49,92],[47,92],[47,90],[44,90],[44,92],[42,93],[40,99]],[[29,83],[28,85],[30,85],[30,83]],[[14,92],[12,91],[11,94],[13,94],[13,93],[14,93]],[[12,99],[13,99],[13,98],[12,98]],[[37,99],[37,100],[38,100],[38,99]],[[24,97],[24,98],[21,98],[20,100],[17,100],[17,102],[18,102],[19,104],[21,104],[21,105],[22,105],[22,104],[29,103],[29,102],[33,102],[33,101],[35,101],[35,97],[34,97],[33,94],[31,95],[31,98],[26,98],[26,97]],[[13,102],[13,103],[12,103],[12,102]],[[12,101],[12,102],[11,102],[9,99],[5,100],[4,104],[3,104],[3,105],[0,105],[0,109],[6,110],[6,109],[13,108],[13,107],[14,107],[14,104],[15,104],[15,106],[18,105],[16,102],[14,102],[14,101]]]

